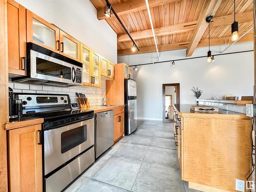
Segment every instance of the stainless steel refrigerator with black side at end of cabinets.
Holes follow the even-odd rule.
[[[124,80],[124,134],[130,135],[137,129],[137,82]]]

